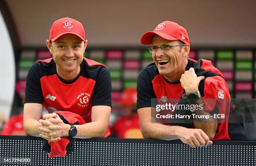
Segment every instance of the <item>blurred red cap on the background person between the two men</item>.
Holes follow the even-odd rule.
[[[122,106],[132,106],[137,102],[137,90],[136,88],[125,89],[121,95],[121,99],[118,104]]]

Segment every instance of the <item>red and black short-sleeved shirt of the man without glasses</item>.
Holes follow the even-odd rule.
[[[57,74],[53,58],[36,62],[28,71],[25,103],[43,104],[49,113],[74,112],[91,122],[92,106],[111,106],[110,73],[105,65],[87,58],[80,67],[79,75],[67,82]]]

